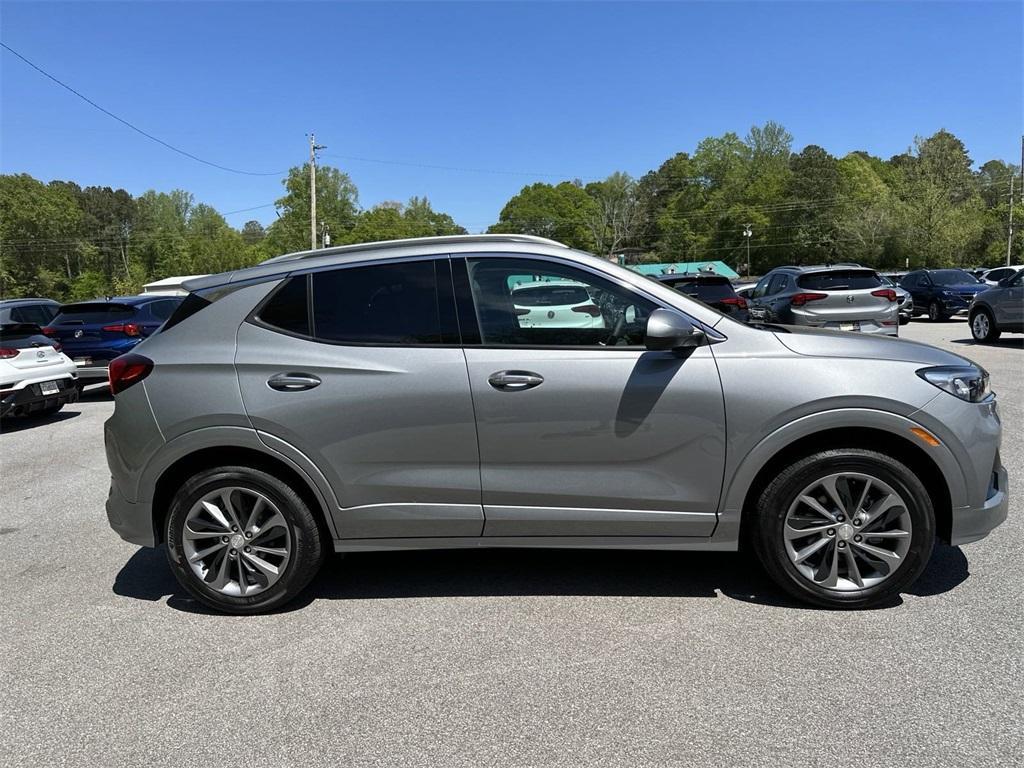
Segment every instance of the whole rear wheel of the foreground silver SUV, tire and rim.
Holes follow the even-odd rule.
[[[193,596],[217,610],[259,613],[284,605],[309,584],[325,554],[306,503],[261,470],[200,472],[171,502],[171,569]]]

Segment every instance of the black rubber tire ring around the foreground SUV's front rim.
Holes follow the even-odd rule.
[[[876,477],[906,503],[912,525],[909,547],[881,584],[850,591],[826,589],[802,574],[786,552],[783,528],[790,506],[809,483],[837,472]],[[797,599],[828,608],[862,608],[891,599],[921,575],[935,544],[935,511],[921,480],[892,457],[864,449],[822,451],[786,467],[761,494],[752,522],[755,552],[772,580]]]

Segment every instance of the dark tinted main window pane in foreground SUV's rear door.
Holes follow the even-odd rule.
[[[433,261],[312,275],[313,336],[349,344],[440,344]]]

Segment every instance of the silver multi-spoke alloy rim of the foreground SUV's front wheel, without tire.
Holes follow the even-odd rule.
[[[808,484],[783,523],[791,562],[808,581],[838,592],[882,584],[910,548],[910,512],[891,485],[861,472]]]

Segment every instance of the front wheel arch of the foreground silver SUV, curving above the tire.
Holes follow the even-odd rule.
[[[876,412],[867,412],[876,413]],[[963,471],[952,454],[944,445],[919,445],[909,431],[914,422],[896,415],[880,415],[881,423],[860,423],[822,426],[818,429],[783,428],[785,438],[775,433],[765,438],[743,460],[726,492],[726,505],[722,522],[738,525],[736,536],[740,547],[748,543],[753,525],[757,500],[779,470],[799,459],[819,451],[837,447],[858,447],[884,453],[905,464],[921,477],[932,499],[936,515],[936,534],[948,542],[952,531],[952,510],[962,506],[966,496]],[[893,428],[885,417],[902,423],[903,428]],[[803,421],[803,420],[802,420]],[[870,422],[871,420],[866,420]],[[883,426],[882,424],[885,424]],[[786,439],[787,438],[787,439]],[[718,531],[716,531],[717,534]]]

